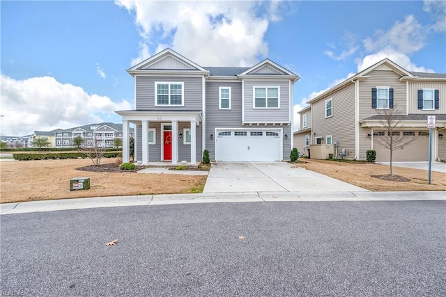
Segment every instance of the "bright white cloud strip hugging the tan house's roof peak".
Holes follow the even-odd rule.
[[[376,54],[370,54],[362,58],[357,65],[357,72],[360,72],[385,58],[390,58],[390,60],[394,61],[394,63],[397,63],[408,71],[434,72],[429,68],[415,65],[412,61],[410,61],[410,58],[406,54],[402,54],[401,52],[390,47],[387,47],[382,51],[378,51]]]

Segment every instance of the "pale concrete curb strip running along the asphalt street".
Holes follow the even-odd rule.
[[[443,200],[446,191],[420,192],[251,192],[138,195],[98,198],[43,200],[0,204],[0,215],[24,214],[41,211],[89,209],[98,207],[151,206],[162,204],[216,203],[216,202],[298,202],[298,201],[411,201]]]

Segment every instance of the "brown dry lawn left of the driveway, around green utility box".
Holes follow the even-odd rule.
[[[114,163],[102,159],[101,163]],[[2,161],[0,202],[66,198],[196,193],[203,190],[206,175],[157,175],[137,172],[86,172],[76,168],[92,165],[90,159]],[[89,190],[70,191],[70,179],[90,177]]]

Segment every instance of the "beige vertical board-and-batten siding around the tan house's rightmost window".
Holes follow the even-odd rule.
[[[440,95],[440,102],[438,106],[440,109],[422,110],[418,109],[418,90],[433,89],[438,90]],[[445,114],[446,113],[446,82],[421,82],[409,81],[408,86],[408,113],[418,114]]]

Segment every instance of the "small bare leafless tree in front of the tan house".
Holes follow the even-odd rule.
[[[415,136],[404,136],[401,131],[399,115],[397,109],[383,109],[379,111],[380,123],[383,125],[384,133],[382,135],[374,135],[377,143],[387,148],[390,152],[390,175],[393,175],[392,169],[392,153],[395,150],[403,149],[404,146],[412,143],[417,138]]]

